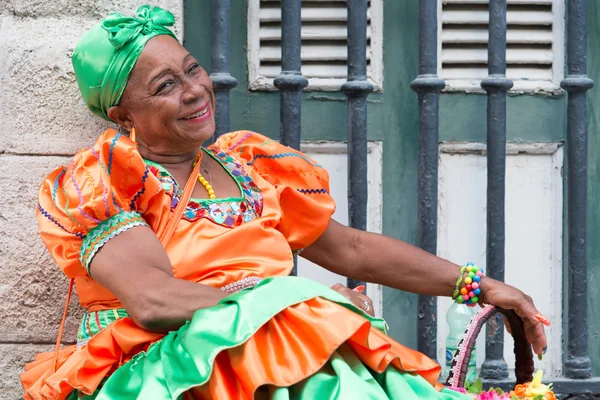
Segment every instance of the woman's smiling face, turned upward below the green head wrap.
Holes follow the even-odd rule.
[[[140,150],[181,155],[215,132],[214,92],[206,71],[174,38],[148,41],[109,117],[131,130]]]

